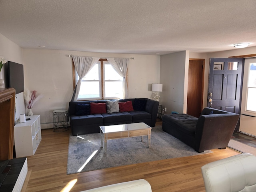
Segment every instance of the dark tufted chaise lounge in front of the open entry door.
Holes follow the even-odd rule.
[[[239,114],[204,108],[199,118],[188,114],[164,115],[162,129],[197,152],[204,152],[226,148],[239,117]]]

